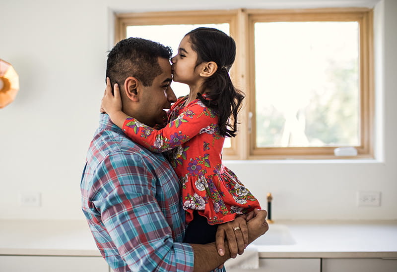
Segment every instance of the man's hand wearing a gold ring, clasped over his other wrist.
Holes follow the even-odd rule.
[[[227,240],[230,256],[236,258],[244,253],[248,245],[248,227],[243,217],[236,217],[232,222],[218,226],[215,236],[216,248],[220,256],[224,255],[224,243]]]

